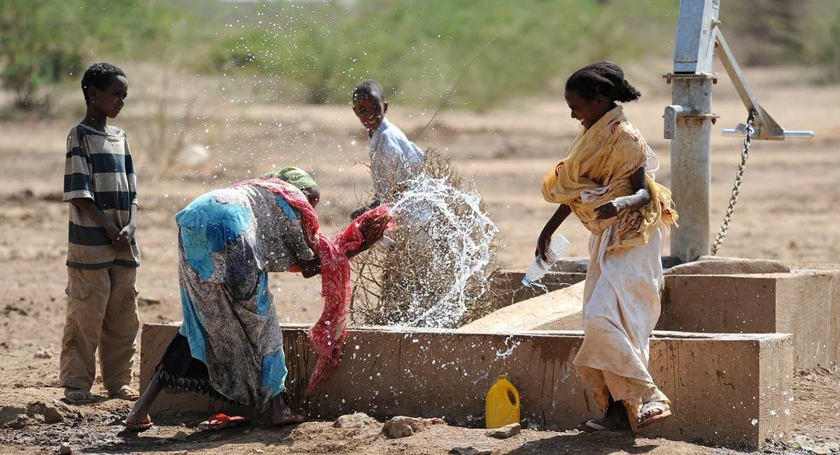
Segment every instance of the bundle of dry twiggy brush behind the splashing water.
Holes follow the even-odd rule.
[[[390,245],[380,243],[354,259],[355,323],[459,327],[496,309],[490,283],[499,268],[498,231],[486,217],[483,204],[477,202],[480,195],[472,182],[459,175],[444,154],[428,149],[423,177],[408,184],[386,185],[395,188],[386,199],[396,201],[399,208],[412,191],[412,197],[417,198],[417,186],[422,185],[418,180],[428,182],[428,178],[437,179],[437,187],[444,187],[440,183],[445,182],[449,196],[435,197],[438,208],[432,209],[427,208],[433,206],[427,204],[428,199],[418,198],[413,210],[397,217],[398,227],[387,234]],[[456,233],[453,226],[467,228]],[[465,258],[464,254],[475,257]],[[464,280],[454,287],[459,276]]]

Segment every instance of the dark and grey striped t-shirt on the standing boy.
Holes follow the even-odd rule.
[[[64,167],[64,200],[90,199],[117,227],[129,223],[131,205],[137,204],[137,175],[122,129],[107,126],[106,133],[76,125],[67,136]],[[67,266],[107,269],[112,265],[137,267],[140,252],[134,238],[131,248],[118,251],[105,228],[70,204]]]

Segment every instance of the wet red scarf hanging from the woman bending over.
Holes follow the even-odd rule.
[[[367,217],[379,216],[388,212],[386,205],[366,212],[344,229],[343,233],[328,238],[318,231],[318,215],[301,191],[279,179],[254,179],[235,183],[234,186],[260,186],[283,196],[283,199],[297,208],[302,215],[303,232],[310,245],[317,248],[321,260],[321,297],[323,311],[318,321],[309,329],[309,344],[318,353],[318,362],[312,370],[307,385],[307,395],[312,393],[323,380],[329,379],[341,361],[344,345],[347,342],[347,313],[350,307],[350,261],[349,251],[358,249],[364,238],[359,228],[360,222]],[[290,271],[300,271],[299,268]]]

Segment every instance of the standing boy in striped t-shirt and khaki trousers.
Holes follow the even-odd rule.
[[[107,124],[123,108],[128,89],[116,66],[91,65],[81,78],[87,113],[67,137],[64,201],[70,202],[70,223],[60,385],[73,404],[93,402],[97,348],[108,396],[138,398],[129,386],[139,329],[137,176],[125,133]]]

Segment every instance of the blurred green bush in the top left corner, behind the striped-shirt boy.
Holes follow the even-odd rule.
[[[55,86],[81,79],[88,58],[159,50],[173,18],[157,1],[0,0],[0,84],[16,107],[47,109]]]

